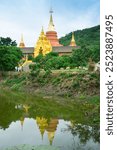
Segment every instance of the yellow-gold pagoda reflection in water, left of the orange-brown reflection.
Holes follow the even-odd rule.
[[[43,139],[43,135],[45,133],[46,128],[48,127],[48,123],[47,123],[47,119],[44,117],[36,117],[36,123],[37,126],[39,127],[42,139]]]

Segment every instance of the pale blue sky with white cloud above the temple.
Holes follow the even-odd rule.
[[[51,7],[58,38],[100,24],[99,0],[0,0],[0,37],[19,43],[23,34],[25,45],[35,46]]]

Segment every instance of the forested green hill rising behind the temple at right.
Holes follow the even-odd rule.
[[[76,44],[78,46],[100,46],[100,25],[74,31]],[[70,44],[72,32],[59,39],[60,44],[67,46]]]

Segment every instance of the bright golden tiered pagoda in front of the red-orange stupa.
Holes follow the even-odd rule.
[[[52,51],[52,46],[50,41],[47,39],[44,30],[42,28],[40,37],[37,40],[36,46],[34,48],[34,57],[37,57],[39,54],[46,55]]]

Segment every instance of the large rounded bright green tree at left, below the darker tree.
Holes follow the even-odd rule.
[[[0,70],[11,71],[22,58],[19,48],[13,46],[0,46]]]

